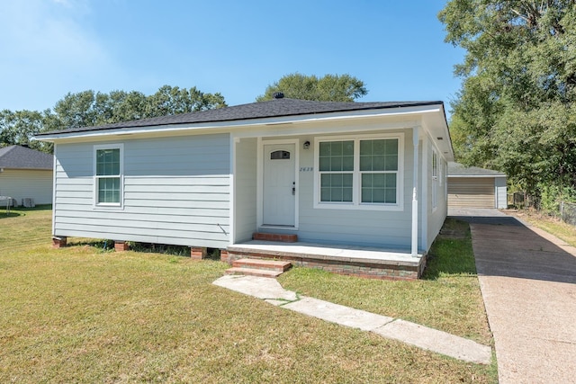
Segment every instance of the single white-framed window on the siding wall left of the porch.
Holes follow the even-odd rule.
[[[95,204],[121,205],[122,147],[94,147]]]

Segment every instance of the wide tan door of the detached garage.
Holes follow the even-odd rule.
[[[448,178],[448,207],[494,208],[494,178]]]

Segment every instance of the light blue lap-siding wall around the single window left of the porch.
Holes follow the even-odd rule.
[[[55,235],[181,246],[229,244],[229,135],[122,143],[121,209],[94,207],[92,144],[56,147]]]

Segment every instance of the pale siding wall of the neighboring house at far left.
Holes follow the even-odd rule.
[[[10,196],[22,204],[26,198],[36,204],[52,203],[52,171],[4,169],[0,173],[0,196]]]

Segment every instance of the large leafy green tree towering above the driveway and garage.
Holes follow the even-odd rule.
[[[466,50],[452,103],[456,156],[528,192],[576,187],[576,2],[452,0],[446,41]]]

